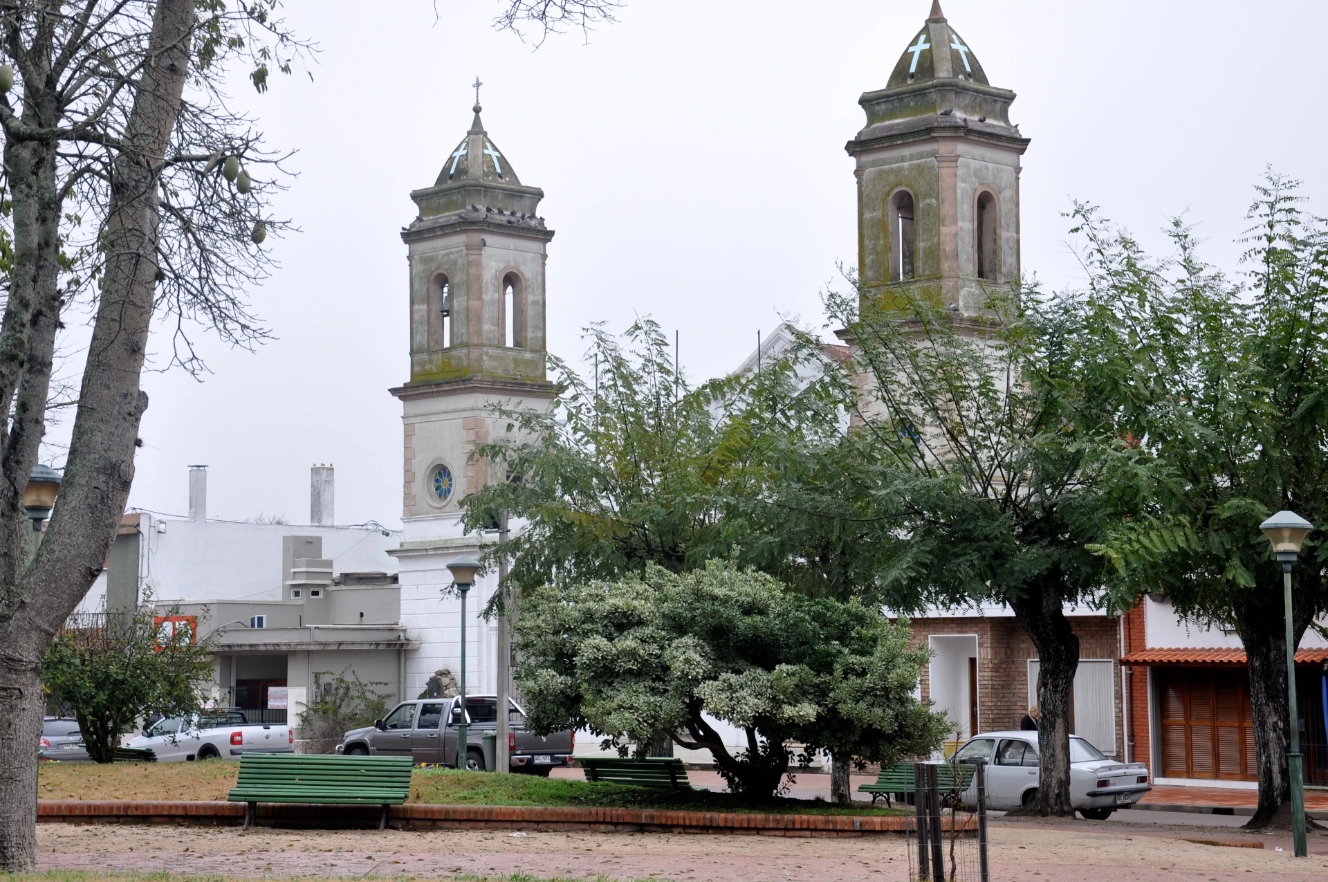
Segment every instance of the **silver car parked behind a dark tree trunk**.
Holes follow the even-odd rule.
[[[1037,732],[984,732],[959,748],[960,764],[987,764],[987,805],[1017,809],[1037,796]],[[1138,762],[1117,762],[1086,739],[1070,736],[1070,805],[1090,821],[1105,821],[1116,809],[1127,809],[1151,790],[1149,769]],[[977,800],[976,785],[964,801]]]

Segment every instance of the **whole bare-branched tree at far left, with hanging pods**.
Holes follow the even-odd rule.
[[[42,652],[101,573],[134,476],[154,320],[201,371],[197,328],[264,336],[244,290],[266,276],[280,155],[220,90],[260,92],[308,50],[279,0],[0,0],[0,871],[35,863]],[[250,177],[251,170],[255,173]],[[64,482],[25,554],[23,491],[50,406],[61,315],[93,316]]]

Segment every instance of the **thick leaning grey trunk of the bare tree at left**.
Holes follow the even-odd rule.
[[[36,863],[41,656],[101,573],[134,477],[138,425],[147,406],[139,376],[155,295],[157,179],[189,73],[193,25],[194,0],[161,0],[157,5],[147,61],[125,126],[126,146],[113,166],[101,238],[105,276],[65,477],[36,559],[17,583],[7,580],[4,586],[0,871],[25,871]],[[35,461],[36,448],[32,456]],[[7,490],[21,494],[27,474],[9,472],[9,462],[5,468]]]

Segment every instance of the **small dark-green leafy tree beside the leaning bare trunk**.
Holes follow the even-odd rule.
[[[189,627],[157,623],[153,608],[73,616],[46,647],[41,683],[78,720],[88,754],[112,762],[126,732],[149,713],[197,713],[212,677],[206,643]]]

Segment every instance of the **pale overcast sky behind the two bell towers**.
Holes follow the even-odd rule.
[[[884,86],[931,0],[629,0],[619,24],[533,50],[490,23],[497,0],[288,0],[320,48],[254,96],[274,146],[299,150],[268,239],[283,267],[252,292],[276,339],[211,344],[214,373],[145,376],[130,505],[183,514],[186,466],[210,466],[212,517],[308,519],[309,466],[336,465],[339,523],[400,526],[412,189],[430,186],[483,121],[521,181],[543,187],[548,344],[655,316],[688,373],[726,372],[781,316],[819,327],[819,294],[853,264],[858,96]],[[434,7],[440,19],[436,20]],[[372,16],[365,15],[372,11]],[[1021,179],[1023,270],[1076,284],[1070,199],[1150,247],[1189,210],[1207,256],[1238,270],[1266,165],[1328,214],[1323,36],[1328,4],[1220,0],[944,0],[1032,138]],[[53,433],[53,437],[58,432]],[[57,458],[58,465],[58,458]]]

